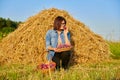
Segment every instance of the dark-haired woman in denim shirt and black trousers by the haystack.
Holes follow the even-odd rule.
[[[60,61],[62,68],[68,68],[70,60],[70,51],[63,51],[57,49],[61,44],[71,45],[70,32],[66,27],[66,20],[62,16],[58,16],[54,20],[54,29],[48,30],[46,33],[46,49],[48,51],[47,58],[49,61],[56,63],[56,69],[60,69]]]

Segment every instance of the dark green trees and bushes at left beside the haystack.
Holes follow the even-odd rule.
[[[22,23],[21,21],[12,21],[11,19],[0,17],[0,39],[14,31],[18,25]]]

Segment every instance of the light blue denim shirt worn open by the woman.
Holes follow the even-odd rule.
[[[62,44],[65,44],[64,31],[60,33]],[[70,41],[70,32],[67,33],[68,40]],[[58,33],[56,30],[48,30],[46,33],[46,50],[48,51],[47,59],[50,61],[54,56],[55,52],[53,50],[48,50],[48,47],[51,46],[56,48],[58,44]]]

